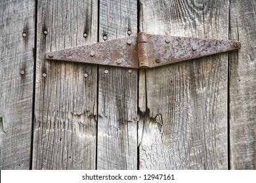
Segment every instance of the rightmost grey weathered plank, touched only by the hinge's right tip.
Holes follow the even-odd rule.
[[[256,169],[256,2],[230,1],[230,169]]]

